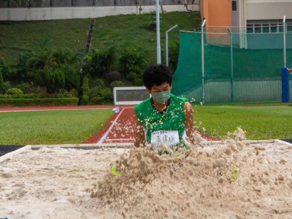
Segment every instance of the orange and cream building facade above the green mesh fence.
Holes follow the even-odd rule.
[[[254,33],[281,31],[284,15],[292,25],[292,0],[200,0],[200,12],[207,26],[248,27]]]

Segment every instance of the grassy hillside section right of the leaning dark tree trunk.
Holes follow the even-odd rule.
[[[161,49],[165,60],[165,31],[174,26],[179,28],[169,33],[169,40],[179,40],[179,30],[194,31],[201,24],[199,12],[169,12],[161,14]],[[148,53],[149,63],[156,63],[156,27],[149,29],[155,14],[120,15],[97,18],[93,30],[91,49],[106,49],[110,46],[125,48],[135,46]]]

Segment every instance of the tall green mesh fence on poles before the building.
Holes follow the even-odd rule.
[[[242,29],[228,32],[227,28],[207,32],[204,33],[205,103],[281,101],[283,33],[246,33]],[[292,67],[292,32],[286,34],[286,45],[287,67]],[[290,84],[292,87],[292,81]],[[193,102],[202,101],[199,32],[180,32],[172,92]]]

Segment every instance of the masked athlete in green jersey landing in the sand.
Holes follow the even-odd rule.
[[[143,75],[151,97],[134,108],[137,136],[134,146],[165,144],[169,148],[194,143],[193,108],[187,99],[171,94],[172,72],[164,65],[152,65]]]

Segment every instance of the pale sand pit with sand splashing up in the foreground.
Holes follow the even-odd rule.
[[[241,138],[131,159],[122,148],[41,148],[0,166],[0,218],[291,218],[291,169],[292,146]]]

